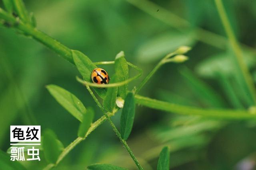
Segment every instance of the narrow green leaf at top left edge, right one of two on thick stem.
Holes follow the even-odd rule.
[[[22,0],[12,0],[14,4],[15,11],[17,12],[20,19],[26,23],[30,23],[30,18],[28,12],[25,8],[25,4]]]

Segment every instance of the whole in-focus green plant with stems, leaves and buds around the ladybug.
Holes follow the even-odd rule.
[[[57,156],[53,155],[54,158],[48,158],[50,164],[46,167],[46,169],[52,168],[53,166],[57,166],[59,162],[62,160],[62,158],[64,158],[64,156],[66,156],[68,152],[70,152],[70,150],[72,150],[82,140],[86,139],[86,137],[105,120],[107,120],[110,123],[110,125],[112,126],[112,129],[114,130],[114,132],[116,133],[116,135],[118,136],[118,138],[120,139],[121,143],[124,145],[126,150],[129,152],[130,156],[132,157],[132,159],[134,160],[138,168],[142,169],[137,158],[134,156],[131,149],[128,147],[126,143],[126,139],[128,139],[128,136],[132,129],[132,124],[133,124],[132,118],[134,117],[135,102],[136,104],[140,104],[142,106],[150,107],[153,109],[159,109],[167,112],[180,113],[185,115],[201,115],[201,116],[206,116],[206,117],[208,116],[208,117],[221,118],[221,119],[239,119],[239,120],[256,118],[255,115],[250,114],[248,111],[245,111],[245,110],[200,109],[195,107],[171,104],[168,102],[162,102],[162,101],[154,100],[151,98],[139,96],[137,94],[140,91],[140,89],[146,84],[146,82],[148,82],[148,80],[153,76],[153,74],[156,73],[156,71],[160,68],[160,66],[169,62],[185,61],[187,57],[185,57],[182,54],[186,53],[189,50],[188,47],[181,47],[176,51],[174,51],[173,53],[166,55],[160,61],[160,63],[158,63],[156,67],[148,74],[148,76],[146,76],[146,78],[142,81],[142,83],[139,84],[138,88],[135,89],[134,92],[128,92],[127,84],[137,79],[139,76],[141,76],[142,71],[137,66],[134,66],[133,64],[128,63],[124,57],[123,52],[120,52],[116,56],[115,61],[92,63],[90,58],[88,58],[86,55],[84,55],[80,51],[71,50],[68,47],[62,45],[58,41],[52,39],[48,35],[36,29],[34,24],[35,22],[33,21],[34,19],[28,17],[28,12],[25,10],[24,4],[22,1],[15,0],[14,3],[11,3],[10,1],[5,1],[5,2],[6,2],[6,11],[0,9],[0,18],[2,19],[1,20],[2,24],[10,27],[14,27],[18,29],[18,31],[21,31],[24,35],[33,37],[34,39],[40,41],[41,43],[43,43],[44,45],[46,45],[47,47],[55,51],[58,55],[60,55],[64,59],[68,60],[70,63],[75,64],[84,79],[82,80],[80,78],[77,78],[78,82],[86,86],[92,98],[94,99],[94,101],[96,102],[98,107],[100,107],[102,113],[104,114],[104,116],[102,116],[100,119],[92,123],[93,111],[88,111],[90,109],[86,109],[86,107],[84,107],[82,102],[78,98],[76,98],[76,96],[74,96],[67,90],[64,90],[63,88],[60,88],[58,86],[55,86],[55,85],[47,86],[52,96],[54,96],[54,98],[56,98],[56,100],[65,109],[67,109],[76,119],[78,119],[82,123],[78,131],[77,139],[75,139],[70,145],[68,145],[68,147],[64,149],[62,148],[59,149],[58,147],[57,148],[55,147],[58,150],[53,149],[54,151],[56,151],[54,153],[56,153]],[[223,15],[225,16],[225,13],[223,12],[223,9],[222,9],[223,7],[220,4],[221,1],[216,1],[216,2],[218,4],[218,8],[221,11],[220,12],[222,14],[221,16]],[[15,16],[12,16],[12,12],[13,12],[12,9],[14,9],[14,12],[18,14],[18,18],[16,18]],[[184,21],[184,23],[186,23],[186,21]],[[231,44],[234,46],[233,49],[237,49],[238,44],[234,39],[234,35],[232,35],[232,30],[230,31],[230,28],[229,28],[230,26],[228,26],[228,21],[225,19],[225,17],[224,17],[224,23],[225,23],[224,25],[228,27],[227,32],[229,37],[231,37],[230,41],[231,41]],[[205,39],[202,39],[202,40],[205,40]],[[238,53],[237,59],[240,63],[239,66],[241,67],[241,70],[243,73],[242,75],[246,80],[246,85],[248,86],[248,89],[251,92],[250,94],[252,95],[252,97],[254,97],[253,96],[254,88],[252,88],[250,78],[248,78],[248,71],[246,70],[246,67],[244,66],[244,64],[241,62],[240,51],[236,51],[236,53]],[[91,71],[98,64],[114,64],[116,74],[114,78],[112,78],[112,81],[110,82],[110,84],[98,85],[90,82]],[[128,78],[128,65],[138,70],[139,74],[132,78]],[[98,96],[100,96],[100,98],[103,99],[103,106],[102,104],[100,104],[100,102],[94,95],[94,92],[90,89],[90,86],[92,86],[94,88],[94,91],[98,94]],[[106,88],[106,89],[103,89],[103,88]],[[123,109],[122,118],[121,118],[120,132],[118,131],[118,129],[115,127],[114,123],[110,119],[110,117],[113,116],[116,113],[116,111],[118,111],[119,109],[119,107],[115,105],[117,96],[120,96],[122,99],[125,99],[124,109]],[[255,99],[255,97],[253,99]],[[128,105],[128,109],[126,109],[127,105]],[[54,137],[54,135],[50,133],[48,133],[48,135],[46,133],[46,136],[50,136],[44,139],[46,143],[49,142],[49,140],[53,140],[52,138],[56,138]],[[53,141],[56,141],[56,140],[53,140]],[[44,146],[47,146],[47,145],[44,145]],[[44,147],[45,150],[47,150],[46,148],[47,147]],[[164,151],[166,152],[166,149],[164,149]],[[47,157],[48,156],[46,154],[46,158]],[[162,156],[160,156],[160,160],[162,159],[163,159]],[[162,162],[162,161],[159,161],[159,162]],[[161,163],[159,164],[160,164],[159,165],[160,167]],[[102,166],[106,168],[107,166],[111,166],[111,165],[97,165],[97,166]],[[92,167],[93,166],[90,166],[89,169],[90,168],[93,169]]]

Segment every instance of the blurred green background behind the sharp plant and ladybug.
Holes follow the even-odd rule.
[[[162,66],[140,91],[143,96],[205,108],[248,109],[252,106],[228,43],[198,32],[201,27],[226,36],[213,1],[151,1],[186,19],[190,23],[186,27],[168,17],[165,20],[174,26],[164,23],[123,0],[24,2],[28,11],[35,14],[38,29],[71,49],[82,51],[94,62],[113,61],[118,52],[124,51],[127,61],[142,68],[142,78],[167,53],[180,45],[191,46],[192,51],[187,54],[190,59],[186,63]],[[153,9],[143,1],[142,4]],[[224,6],[236,37],[255,48],[256,2],[224,0]],[[154,12],[165,14],[160,7]],[[198,37],[221,47],[198,41]],[[256,78],[256,53],[245,49],[244,54]],[[104,66],[104,69],[111,77],[114,68]],[[76,81],[77,75],[80,74],[72,64],[40,43],[18,35],[13,29],[0,27],[0,148],[6,151],[10,147],[10,125],[41,125],[42,131],[50,128],[64,146],[76,138],[79,122],[50,96],[45,88],[48,84],[69,90],[86,107],[94,107],[95,120],[101,117],[86,88]],[[130,89],[142,78],[132,82]],[[119,127],[120,111],[112,120]],[[252,169],[256,165],[255,141],[256,121],[178,116],[137,106],[127,142],[146,170],[156,169],[163,146],[170,147],[173,170],[249,170],[248,165]],[[28,169],[42,169],[47,165],[42,152],[40,158],[40,162],[22,164]],[[107,122],[54,169],[84,169],[93,163],[136,169]]]

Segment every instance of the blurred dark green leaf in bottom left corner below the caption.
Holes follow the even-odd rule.
[[[11,161],[10,155],[0,150],[0,169],[1,170],[26,170],[18,161]]]

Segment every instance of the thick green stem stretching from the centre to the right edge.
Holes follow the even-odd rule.
[[[233,110],[233,109],[202,109],[198,107],[182,106],[178,104],[172,104],[168,102],[162,102],[147,98],[140,95],[135,95],[136,103],[142,106],[146,106],[152,109],[167,111],[171,113],[177,113],[182,115],[200,115],[218,119],[230,119],[230,120],[250,120],[256,119],[255,114],[250,114],[246,110]]]

